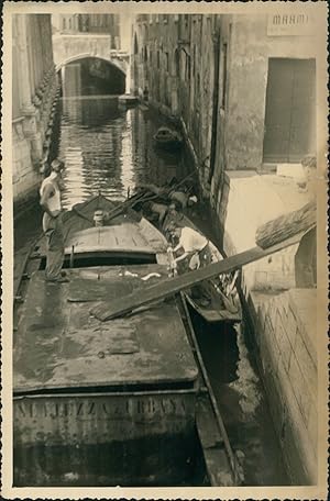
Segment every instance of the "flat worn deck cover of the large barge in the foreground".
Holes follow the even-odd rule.
[[[107,270],[109,282],[111,277],[120,278],[121,267],[109,268],[114,268]],[[138,266],[132,267],[132,271],[135,268]],[[136,381],[162,383],[164,388],[177,381],[185,388],[194,388],[198,370],[178,310],[179,301],[170,300],[152,311],[101,323],[90,318],[90,304],[67,301],[75,280],[81,283],[80,272],[80,269],[72,269],[70,282],[59,287],[46,282],[43,271],[32,275],[15,333],[14,391],[121,386]],[[140,281],[130,276],[121,279],[124,283]]]

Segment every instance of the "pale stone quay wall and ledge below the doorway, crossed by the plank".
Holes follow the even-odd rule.
[[[228,171],[224,179],[217,210],[227,255],[254,247],[257,226],[314,197],[275,175]],[[241,288],[292,481],[311,485],[318,475],[316,289],[296,288],[297,249],[298,244],[244,266]]]

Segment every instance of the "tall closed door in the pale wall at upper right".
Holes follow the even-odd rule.
[[[315,59],[268,60],[264,162],[297,163],[316,148]]]

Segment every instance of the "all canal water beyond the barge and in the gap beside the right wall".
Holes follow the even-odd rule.
[[[144,109],[121,109],[109,96],[63,98],[61,108],[58,152],[65,162],[65,209],[99,191],[123,200],[139,185],[162,185],[190,172],[185,154],[155,149],[152,136],[161,122]],[[195,215],[208,225],[207,211],[197,210]],[[15,263],[40,229],[38,208],[15,223]],[[197,315],[193,320],[244,483],[288,485],[262,381],[241,330],[210,326]]]

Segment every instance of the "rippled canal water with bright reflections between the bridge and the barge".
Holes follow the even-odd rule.
[[[101,191],[123,200],[144,182],[166,182],[187,174],[179,152],[155,151],[157,123],[141,109],[123,110],[113,97],[62,99],[59,156],[64,159],[63,205]]]

